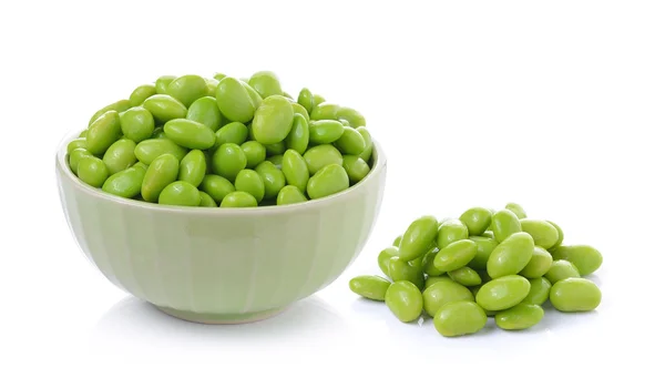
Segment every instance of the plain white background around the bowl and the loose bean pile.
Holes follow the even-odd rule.
[[[664,20],[659,1],[3,1],[0,376],[659,376]],[[55,149],[158,75],[256,70],[366,115],[388,154],[381,214],[283,315],[178,321],[78,251]],[[509,201],[603,253],[596,311],[448,339],[348,290],[412,218]]]

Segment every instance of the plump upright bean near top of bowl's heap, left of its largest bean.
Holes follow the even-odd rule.
[[[254,91],[250,86],[249,90]],[[258,93],[254,91],[252,94],[249,90],[235,78],[226,76],[219,80],[216,99],[222,115],[232,122],[249,122],[258,106]]]

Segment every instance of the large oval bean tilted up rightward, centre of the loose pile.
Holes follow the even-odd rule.
[[[492,278],[515,275],[533,256],[533,238],[519,232],[511,234],[492,251],[488,259],[488,274]]]

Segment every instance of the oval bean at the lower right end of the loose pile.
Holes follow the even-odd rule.
[[[594,310],[601,304],[602,297],[596,284],[580,277],[562,279],[550,290],[550,303],[562,313]]]

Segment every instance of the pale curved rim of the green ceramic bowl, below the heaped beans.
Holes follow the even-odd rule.
[[[177,206],[177,205],[160,205],[151,202],[136,201],[132,198],[124,198],[120,196],[115,196],[109,193],[103,192],[101,188],[90,186],[81,181],[74,173],[70,170],[69,164],[66,163],[66,156],[69,155],[66,152],[68,144],[78,139],[79,133],[68,134],[59,144],[58,151],[55,152],[55,166],[58,176],[69,180],[79,191],[86,193],[88,195],[94,196],[100,201],[109,201],[116,203],[119,205],[133,206],[137,208],[144,208],[146,211],[153,212],[164,212],[164,213],[187,213],[195,215],[231,215],[231,216],[243,216],[243,215],[267,215],[275,213],[290,213],[290,212],[307,212],[311,210],[320,210],[323,207],[330,206],[331,204],[342,201],[344,197],[350,196],[356,192],[359,192],[365,186],[369,185],[368,183],[372,181],[377,175],[380,174],[379,171],[383,171],[383,167],[387,165],[386,154],[374,136],[371,137],[374,149],[372,156],[375,160],[375,164],[371,166],[369,173],[358,183],[350,186],[349,188],[335,193],[332,195],[317,198],[317,200],[308,200],[307,202],[288,204],[288,205],[270,205],[270,206],[256,206],[256,207],[224,207],[221,210],[219,206],[216,207],[203,207],[203,206]]]

